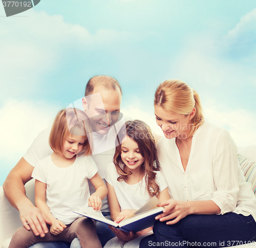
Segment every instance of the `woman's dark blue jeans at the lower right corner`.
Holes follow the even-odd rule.
[[[144,247],[227,247],[256,240],[256,222],[251,215],[187,215],[173,225],[157,220],[154,234],[140,241]],[[251,245],[255,245],[251,244]]]

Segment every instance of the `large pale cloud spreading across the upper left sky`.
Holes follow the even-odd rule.
[[[127,40],[136,40],[133,33],[114,30],[100,29],[91,34],[80,25],[68,24],[61,15],[50,16],[44,11],[30,9],[26,15],[28,17],[1,18],[2,101],[10,94],[15,97],[35,93],[47,73],[54,72],[66,61],[63,58],[67,54],[93,53],[94,50],[100,53],[105,46],[118,47]]]

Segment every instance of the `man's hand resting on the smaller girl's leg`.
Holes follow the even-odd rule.
[[[36,236],[44,237],[45,233],[48,233],[46,223],[51,224],[51,221],[33,204],[24,205],[22,209],[19,209],[19,217],[23,226],[27,230],[31,229]]]

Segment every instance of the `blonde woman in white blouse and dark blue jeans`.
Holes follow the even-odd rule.
[[[238,165],[229,133],[204,121],[197,92],[166,80],[155,93],[164,137],[158,160],[170,200],[140,247],[232,246],[256,239],[256,198]],[[235,241],[235,242],[233,242]]]

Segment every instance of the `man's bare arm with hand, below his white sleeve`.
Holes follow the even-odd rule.
[[[42,216],[41,211],[36,208],[26,196],[24,185],[31,180],[34,167],[23,157],[7,176],[3,189],[10,204],[19,211],[20,220],[27,230],[32,229],[35,235],[45,236],[48,232],[46,222],[50,221]]]

